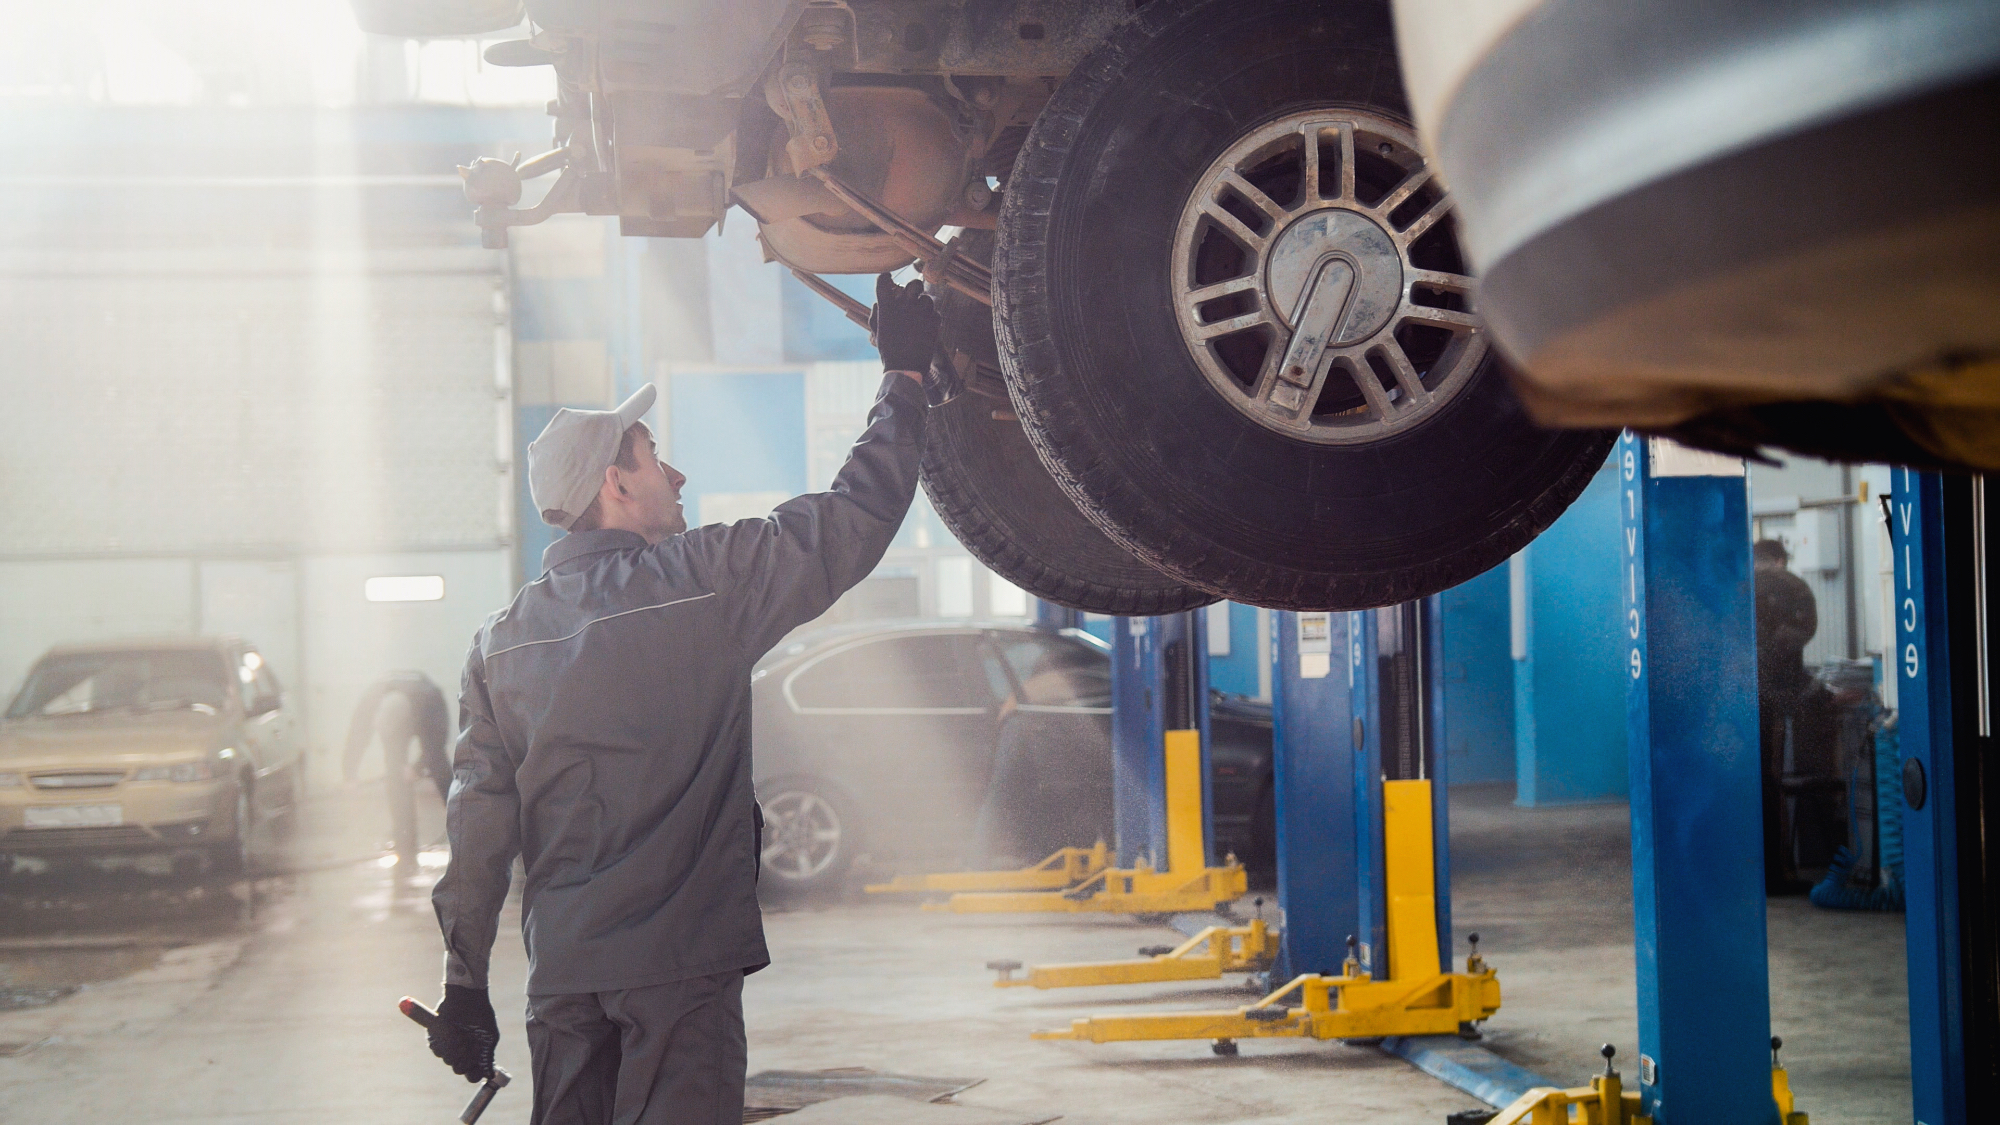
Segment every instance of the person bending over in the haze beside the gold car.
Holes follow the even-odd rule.
[[[452,789],[452,763],[444,743],[452,737],[452,713],[444,693],[416,671],[390,673],[368,685],[348,721],[348,745],[340,757],[340,777],[354,785],[368,743],[382,745],[382,795],[388,799],[390,839],[396,867],[416,869],[416,795],[410,771],[410,743],[416,741],[416,773],[438,787],[438,799]]]

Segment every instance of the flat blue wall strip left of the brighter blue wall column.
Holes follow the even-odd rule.
[[[1514,661],[1508,571],[1494,567],[1438,595],[1444,617],[1444,777],[1514,781]]]

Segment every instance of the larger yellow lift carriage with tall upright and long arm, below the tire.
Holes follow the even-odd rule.
[[[1454,1035],[1500,1011],[1500,979],[1478,955],[1464,973],[1446,973],[1438,957],[1436,863],[1430,833],[1430,781],[1382,783],[1386,837],[1388,947],[1392,977],[1362,973],[1348,939],[1338,977],[1306,973],[1254,1005],[1222,1011],[1096,1015],[1036,1039],[1214,1039],[1234,1055],[1238,1039],[1372,1039],[1378,1035]],[[1292,999],[1296,995],[1296,1001]]]

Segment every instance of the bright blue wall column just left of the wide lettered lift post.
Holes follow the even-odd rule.
[[[1526,611],[1526,657],[1514,661],[1520,805],[1626,799],[1618,550],[1618,474],[1606,462],[1510,565]]]

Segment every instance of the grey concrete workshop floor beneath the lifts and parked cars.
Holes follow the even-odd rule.
[[[316,799],[300,865],[368,851],[368,793]],[[436,809],[424,811],[434,823]],[[1506,1007],[1488,1045],[1562,1081],[1596,1047],[1634,1053],[1630,881],[1622,807],[1514,809],[1500,789],[1452,801],[1454,913],[1500,969]],[[430,857],[438,859],[436,855]],[[244,895],[172,885],[14,887],[0,895],[0,989],[86,985],[0,1011],[0,1105],[10,1121],[424,1123],[456,1117],[468,1087],[430,1059],[392,1005],[436,997],[426,879],[376,865],[264,881]],[[494,1001],[500,1063],[526,1075],[524,961],[502,923]],[[1092,1011],[1232,1007],[1214,987],[998,991],[988,959],[1130,957],[1162,927],[1086,917],[926,915],[860,895],[774,907],[776,963],[750,979],[750,1069],[874,1067],[984,1077],[964,1105],[1060,1113],[1070,1123],[1436,1125],[1476,1103],[1374,1049],[1244,1043],[1038,1043]],[[1816,1125],[1910,1119],[1900,915],[1772,903],[1774,1027]],[[114,951],[114,953],[108,953]],[[1626,1065],[1630,1073],[1630,1063]],[[524,1087],[484,1121],[524,1123]],[[944,1113],[944,1111],[940,1111]],[[970,1113],[966,1117],[972,1117]],[[940,1117],[948,1121],[948,1117]]]

